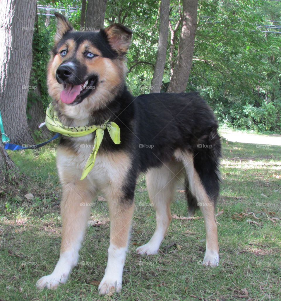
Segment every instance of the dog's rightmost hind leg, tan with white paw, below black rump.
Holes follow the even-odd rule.
[[[200,154],[196,156],[200,157]],[[200,177],[199,173],[194,167],[196,156],[193,158],[193,155],[189,152],[178,151],[176,153],[176,157],[179,160],[182,160],[185,166],[187,178],[189,181],[190,191],[192,192],[193,196],[196,198],[198,206],[200,207],[204,217],[205,230],[206,230],[206,252],[202,264],[205,266],[217,266],[219,262],[219,254],[218,254],[219,249],[218,249],[217,224],[215,221],[215,199],[214,199],[218,194],[219,180],[216,175],[217,166],[214,166],[215,168],[213,170],[209,169],[210,173],[212,173],[210,175],[208,175],[207,166],[205,165],[202,166],[206,175],[205,178],[203,178],[202,176]],[[206,178],[208,178],[209,181],[208,184],[212,186],[211,188],[210,187],[208,188],[214,191],[212,195],[206,192],[207,190]]]

